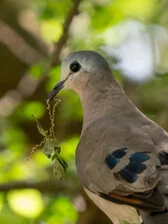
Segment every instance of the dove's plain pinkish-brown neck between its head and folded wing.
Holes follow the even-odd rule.
[[[101,85],[94,83],[79,95],[83,106],[83,131],[104,116],[120,116],[128,108],[128,103],[132,107],[123,89],[114,79],[103,80]]]

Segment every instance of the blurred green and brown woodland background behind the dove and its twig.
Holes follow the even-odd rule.
[[[27,162],[43,137],[48,92],[60,62],[71,51],[103,54],[127,95],[168,130],[167,0],[0,0],[0,223],[108,224],[85,196],[77,178],[75,148],[82,108],[62,91],[55,135],[68,163],[55,181],[41,152]]]

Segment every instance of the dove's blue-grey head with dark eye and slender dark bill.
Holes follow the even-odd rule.
[[[62,62],[61,81],[49,93],[48,98],[51,100],[63,88],[80,94],[86,87],[110,76],[110,68],[100,54],[94,51],[73,52]]]

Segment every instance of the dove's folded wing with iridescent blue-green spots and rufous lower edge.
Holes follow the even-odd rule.
[[[84,186],[113,202],[163,210],[164,200],[154,190],[159,183],[160,160],[148,134],[118,124],[111,128],[109,121],[99,123],[99,130],[96,126],[87,130],[82,147],[78,146],[77,155],[85,150],[83,156],[88,157],[81,157],[83,162],[77,164]]]

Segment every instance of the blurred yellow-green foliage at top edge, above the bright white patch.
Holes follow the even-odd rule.
[[[152,17],[155,4],[156,0],[114,0],[104,5],[97,4],[93,8],[91,27],[103,32],[124,19],[147,20]]]

